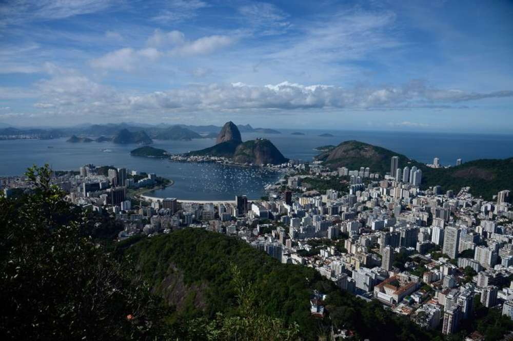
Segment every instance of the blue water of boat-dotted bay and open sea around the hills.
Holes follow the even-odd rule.
[[[337,145],[346,140],[358,140],[385,147],[424,163],[440,158],[443,165],[453,165],[475,159],[508,158],[513,156],[513,135],[394,133],[326,130],[285,130],[282,134],[242,133],[243,140],[265,137],[271,140],[289,159],[311,161],[319,154],[314,147]],[[303,132],[305,135],[291,135]],[[321,137],[330,133],[333,137]],[[179,154],[213,145],[214,139],[192,141],[154,140],[152,146]],[[244,168],[212,163],[169,162],[130,156],[136,146],[105,143],[67,143],[66,138],[55,140],[0,141],[0,176],[21,175],[32,164],[48,163],[55,170],[78,169],[93,163],[156,173],[175,181],[173,186],[149,195],[176,197],[183,200],[233,200],[246,194],[259,198],[264,186],[275,182],[280,174],[260,168]]]

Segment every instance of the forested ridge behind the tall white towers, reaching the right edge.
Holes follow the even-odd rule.
[[[369,167],[371,172],[384,175],[390,172],[392,156],[399,157],[401,168],[417,166],[422,169],[423,189],[440,185],[443,191],[452,189],[457,192],[462,187],[469,186],[470,193],[487,200],[491,200],[500,190],[513,190],[513,158],[475,160],[449,168],[430,168],[405,155],[360,141],[342,142],[316,158],[332,169],[342,166],[349,169]]]

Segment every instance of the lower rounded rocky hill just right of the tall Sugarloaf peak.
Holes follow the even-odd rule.
[[[288,161],[267,139],[256,139],[239,144],[232,159],[237,163],[254,164],[280,164]]]

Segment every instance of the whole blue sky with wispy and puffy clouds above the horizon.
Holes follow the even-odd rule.
[[[0,1],[0,126],[513,132],[511,1]]]

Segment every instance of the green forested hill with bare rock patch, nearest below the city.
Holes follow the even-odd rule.
[[[187,228],[125,246],[143,278],[155,293],[176,307],[170,321],[175,327],[192,317],[212,319],[216,312],[237,311],[232,268],[254,284],[259,314],[299,325],[303,339],[318,339],[331,323],[357,333],[357,339],[421,340],[438,334],[421,331],[407,318],[384,311],[379,303],[366,303],[325,280],[312,268],[281,264],[246,242],[220,233]],[[123,246],[121,249],[123,249]],[[120,252],[120,250],[118,250]],[[328,294],[324,319],[310,315],[313,289]]]

